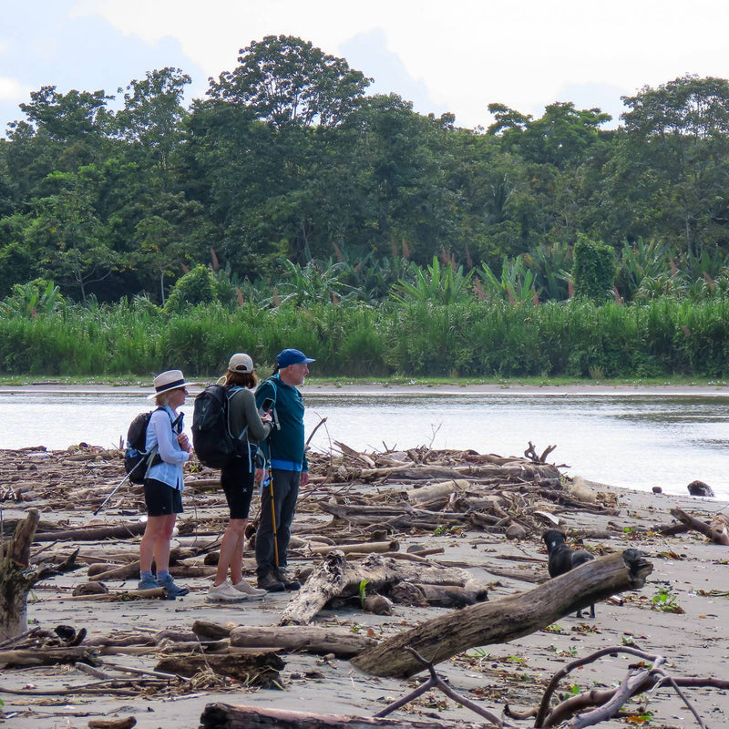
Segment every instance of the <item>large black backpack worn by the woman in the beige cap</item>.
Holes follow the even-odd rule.
[[[210,385],[195,398],[192,411],[192,447],[203,466],[221,468],[232,457],[248,451],[247,442],[242,440],[247,426],[235,438],[231,436],[228,420],[228,401],[239,389]]]

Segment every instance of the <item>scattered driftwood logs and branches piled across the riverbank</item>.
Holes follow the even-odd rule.
[[[424,666],[432,673],[434,664],[470,647],[508,642],[592,602],[636,590],[652,570],[639,552],[627,549],[592,560],[569,578],[548,581],[545,560],[525,557],[539,562],[539,570],[499,570],[493,564],[486,569],[539,584],[489,601],[486,582],[453,563],[444,566],[433,559],[442,549],[415,545],[402,551],[400,541],[463,530],[539,539],[545,529],[560,524],[565,510],[617,517],[620,508],[614,494],[588,488],[580,478],[564,477],[560,467],[546,462],[553,447],[538,454],[531,443],[523,457],[425,447],[359,453],[342,443],[336,447],[336,452],[310,455],[311,478],[301,493],[290,555],[304,585],[277,625],[246,628],[196,621],[189,632],[159,631],[140,637],[138,631],[133,635],[122,631],[93,641],[82,631],[63,626],[28,631],[27,591],[53,574],[86,570],[87,580],[66,600],[163,599],[162,590],[109,590],[105,584],[136,581],[139,574],[142,489],[126,484],[108,503],[105,518],[90,519],[124,476],[120,451],[81,446],[64,452],[44,448],[3,452],[0,505],[12,510],[13,516],[0,520],[0,664],[27,665],[42,652],[50,662],[83,665],[98,681],[78,687],[78,693],[134,693],[141,683],[148,691],[180,693],[190,691],[190,682],[195,690],[207,686],[216,691],[236,682],[275,685],[285,664],[281,652],[292,651],[332,654],[351,660],[365,673],[406,677]],[[195,499],[196,519],[180,519],[179,546],[173,549],[170,571],[176,578],[209,577],[220,547],[224,505],[220,476],[194,461],[189,468],[186,484],[193,496],[186,498]],[[58,512],[61,519],[48,519]],[[672,513],[676,522],[652,529],[666,534],[696,529],[716,543],[729,543],[724,515],[705,524],[679,509]],[[107,514],[114,515],[114,523],[108,523]],[[254,542],[254,524],[249,536]],[[252,570],[253,565],[246,567]],[[319,612],[335,601],[385,614],[394,603],[459,611],[376,642],[372,635],[313,625]],[[151,652],[159,655],[159,662],[152,671],[140,670],[130,678],[119,676],[124,669],[108,659],[100,660],[125,652]],[[650,681],[631,683],[630,695],[650,688],[655,674],[651,676]],[[620,696],[624,703],[624,693]],[[615,694],[601,701],[614,702]],[[573,705],[572,714],[582,711],[589,700]],[[265,712],[249,707],[241,718],[241,711],[216,704],[201,721],[210,727],[255,726],[259,724],[252,714],[258,712],[261,725],[271,724],[272,717]],[[571,715],[561,704],[556,714],[552,709],[542,714],[542,724],[535,726],[555,725],[556,716]],[[281,726],[323,725],[315,720],[312,715],[309,724],[302,724],[301,717],[276,719]],[[353,719],[346,725],[356,724]]]

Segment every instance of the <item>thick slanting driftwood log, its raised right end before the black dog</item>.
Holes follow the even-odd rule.
[[[423,670],[405,650],[410,646],[428,662],[437,663],[480,645],[508,642],[529,635],[624,590],[636,590],[652,572],[641,552],[626,549],[601,557],[545,582],[528,592],[449,612],[401,632],[360,653],[352,663],[376,676],[407,677]]]

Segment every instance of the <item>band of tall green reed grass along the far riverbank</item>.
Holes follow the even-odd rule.
[[[149,377],[180,367],[212,379],[234,352],[267,375],[284,347],[331,377],[721,378],[729,301],[200,304],[185,313],[122,302],[0,319],[0,375]]]

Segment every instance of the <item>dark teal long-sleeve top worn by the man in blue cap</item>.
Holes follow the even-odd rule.
[[[302,394],[293,385],[283,382],[278,375],[273,375],[258,385],[256,404],[262,406],[267,397],[273,400],[274,426],[263,448],[271,459],[271,467],[308,471],[303,438]]]

